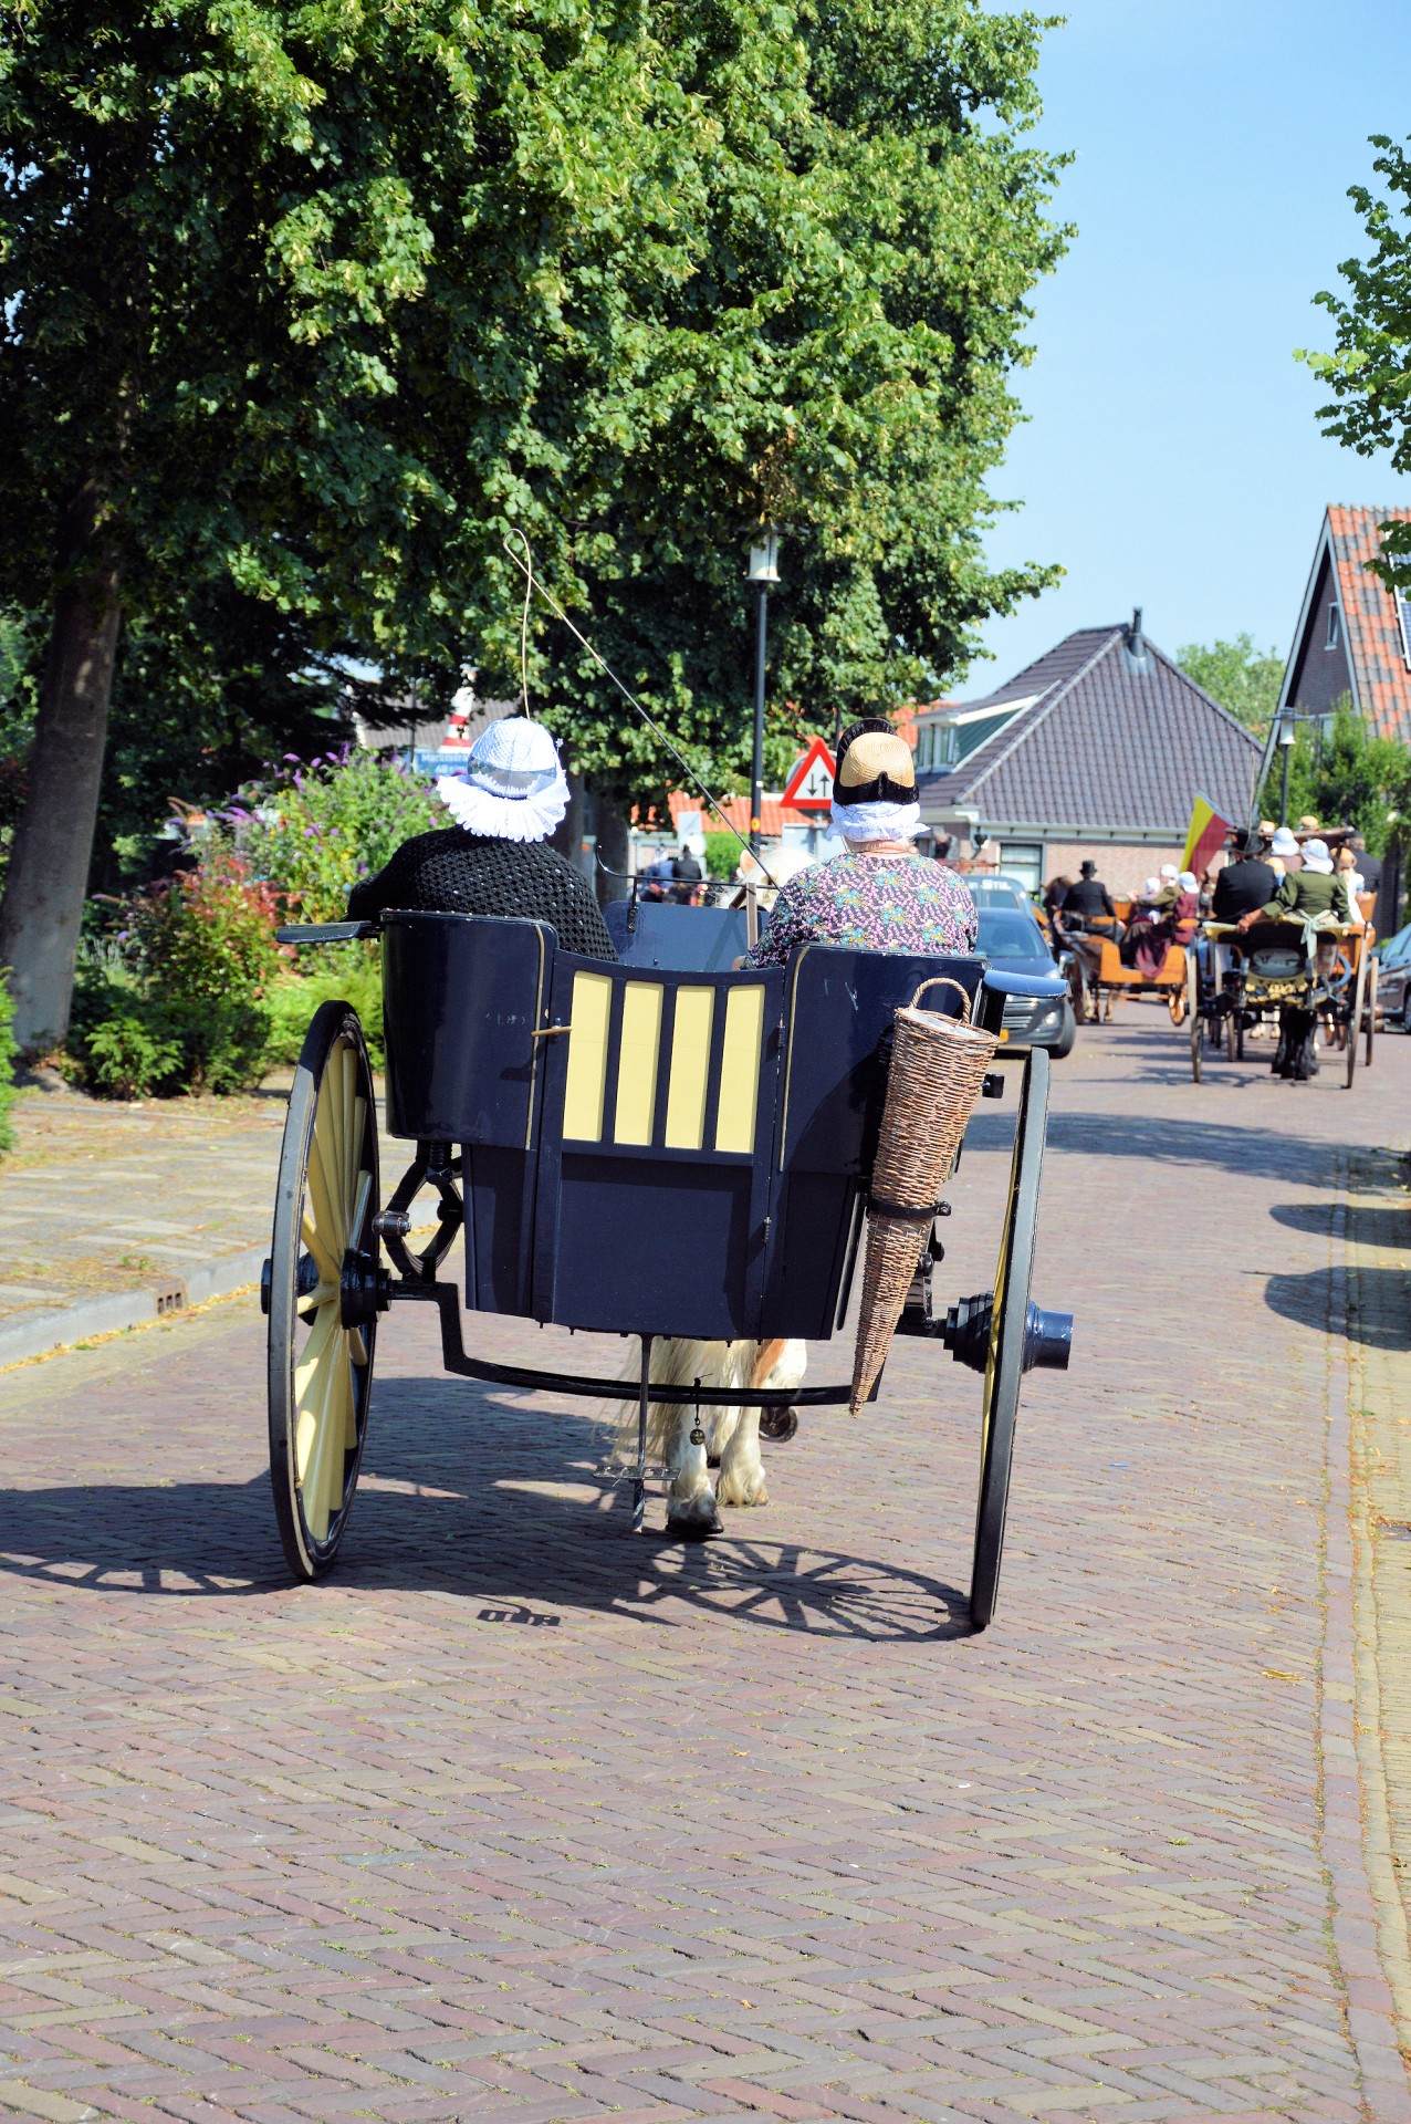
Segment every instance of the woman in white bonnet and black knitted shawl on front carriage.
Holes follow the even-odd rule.
[[[560,949],[617,958],[588,879],[550,835],[569,809],[558,746],[541,722],[507,716],[482,731],[465,775],[441,775],[437,796],[454,826],[403,841],[376,877],[348,894],[348,918],[388,907],[547,922]]]

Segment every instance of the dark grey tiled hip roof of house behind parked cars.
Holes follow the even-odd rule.
[[[1243,822],[1260,746],[1150,635],[1142,665],[1125,627],[1084,627],[982,701],[1042,692],[951,773],[921,782],[931,818],[980,813],[991,830],[1137,828],[1180,841],[1197,796]]]

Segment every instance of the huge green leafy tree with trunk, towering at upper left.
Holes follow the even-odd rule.
[[[225,588],[435,699],[516,669],[524,529],[692,756],[745,722],[738,548],[791,527],[772,692],[885,701],[1048,580],[985,480],[1061,234],[1042,21],[974,0],[4,0],[0,599],[49,614],[0,907],[66,1024],[123,622]],[[668,780],[552,627],[533,684]]]

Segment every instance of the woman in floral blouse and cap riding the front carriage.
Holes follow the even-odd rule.
[[[802,943],[925,958],[974,952],[974,901],[955,871],[917,856],[921,809],[910,746],[881,716],[842,733],[832,822],[847,856],[817,862],[779,888],[747,966],[783,966]]]

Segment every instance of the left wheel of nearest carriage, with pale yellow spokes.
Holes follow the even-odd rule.
[[[356,1011],[314,1015],[284,1117],[269,1249],[269,1480],[289,1568],[337,1555],[367,1436],[373,1319],[344,1325],[344,1257],[373,1245],[378,1111]]]

